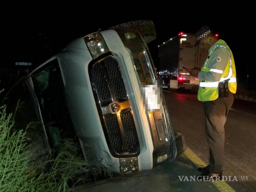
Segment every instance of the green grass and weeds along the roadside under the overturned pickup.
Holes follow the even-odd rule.
[[[38,133],[35,130],[40,123],[30,122],[22,129],[20,123],[15,123],[25,107],[18,100],[14,113],[7,114],[7,106],[0,106],[0,192],[69,191],[77,183],[86,182],[89,176],[95,179],[102,174],[112,176],[102,159],[89,156],[85,160],[80,144],[72,139],[61,140],[47,158],[31,163],[28,144]]]

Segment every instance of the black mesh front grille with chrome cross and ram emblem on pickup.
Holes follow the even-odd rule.
[[[89,64],[88,70],[111,154],[115,157],[137,156],[140,145],[119,63],[109,55]]]

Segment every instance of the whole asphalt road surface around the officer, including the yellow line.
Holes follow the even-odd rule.
[[[80,186],[76,191],[255,191],[256,189],[256,103],[235,99],[225,124],[223,175],[245,181],[180,181],[178,176],[197,175],[207,165],[204,111],[197,95],[188,90],[164,91],[172,127],[185,137],[187,150],[174,162],[164,162],[150,171]]]

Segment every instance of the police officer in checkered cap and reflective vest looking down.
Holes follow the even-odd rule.
[[[192,76],[199,77],[198,100],[203,102],[207,141],[210,146],[209,165],[197,170],[202,173],[200,176],[221,178],[224,125],[234,101],[233,94],[236,93],[236,68],[231,49],[208,26],[199,29],[195,36],[196,45],[209,50],[201,71],[198,68],[189,70]]]

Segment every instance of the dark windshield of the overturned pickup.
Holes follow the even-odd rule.
[[[62,138],[74,139],[76,134],[65,100],[58,60],[52,60],[34,72],[32,79],[50,144],[57,145]]]

